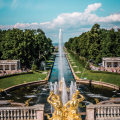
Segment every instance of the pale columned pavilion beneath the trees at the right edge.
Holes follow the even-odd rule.
[[[102,58],[103,67],[120,67],[120,57],[103,57]]]

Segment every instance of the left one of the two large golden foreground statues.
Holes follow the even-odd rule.
[[[50,98],[52,98],[52,100],[50,100]],[[52,118],[47,115],[48,120],[63,120],[63,104],[60,97],[58,95],[54,95],[53,91],[51,91],[47,101],[52,104],[55,109],[52,114]]]

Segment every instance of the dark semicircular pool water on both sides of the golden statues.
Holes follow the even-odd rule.
[[[78,85],[78,90],[80,94],[85,97],[85,100],[80,103],[78,106],[78,110],[80,112],[85,112],[85,105],[89,103],[96,103],[94,98],[98,98],[99,101],[109,100],[111,96],[114,95],[111,89],[106,88],[94,88],[91,87],[91,91],[88,89],[88,85]],[[105,92],[103,92],[105,91]],[[47,97],[49,96],[50,87],[49,84],[46,85],[34,85],[29,88],[21,88],[19,90],[15,90],[9,93],[9,96],[4,96],[5,98],[1,98],[1,100],[9,100],[12,99],[14,102],[24,103],[29,98],[33,98],[29,105],[33,106],[36,104],[45,104],[45,112],[50,113],[50,104],[47,103]],[[99,93],[99,94],[98,94]],[[117,95],[117,93],[115,94]]]

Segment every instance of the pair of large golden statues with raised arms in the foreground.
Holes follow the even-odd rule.
[[[78,95],[80,98],[78,98]],[[51,98],[52,100],[50,100]],[[69,100],[64,105],[63,110],[63,104],[60,97],[58,95],[54,95],[53,91],[51,91],[47,101],[53,105],[55,111],[51,118],[47,115],[48,120],[82,120],[77,108],[79,103],[84,99],[84,96],[80,94],[79,90],[76,90],[76,93],[73,93],[72,100]]]

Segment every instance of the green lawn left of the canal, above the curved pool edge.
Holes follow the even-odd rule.
[[[33,74],[24,74],[2,78],[0,79],[0,88],[5,89],[14,85],[22,84],[24,81],[26,83],[37,81],[39,80],[38,78],[41,78],[41,80],[43,80],[46,78],[46,74],[34,72]]]

